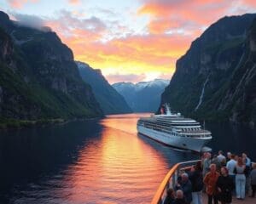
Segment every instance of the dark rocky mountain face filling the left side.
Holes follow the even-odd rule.
[[[0,12],[0,119],[102,116],[79,76],[73,52],[55,32],[38,31]]]

